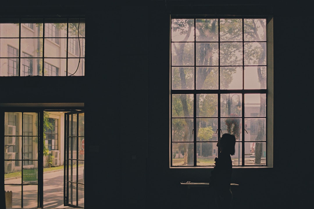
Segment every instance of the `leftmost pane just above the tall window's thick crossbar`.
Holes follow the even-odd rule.
[[[172,89],[194,89],[194,67],[172,67]]]

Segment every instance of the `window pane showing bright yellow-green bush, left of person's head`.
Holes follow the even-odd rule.
[[[217,118],[198,118],[197,141],[198,142],[218,142],[218,119]]]

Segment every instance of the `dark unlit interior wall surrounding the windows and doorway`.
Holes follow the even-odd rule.
[[[0,18],[86,16],[85,77],[0,77],[0,103],[84,102],[87,209],[111,204],[110,208],[192,208],[190,201],[206,208],[213,201],[211,190],[188,193],[179,184],[208,181],[211,169],[169,168],[169,25],[176,6],[166,3],[28,1],[22,2],[24,7],[16,2],[3,6]],[[225,8],[230,12],[242,8],[254,13],[251,4],[225,1],[219,8],[224,11],[229,5]],[[234,208],[301,208],[313,187],[313,18],[302,3],[260,7],[270,8],[274,16],[274,167],[234,169],[233,181],[240,184],[234,188]],[[197,7],[185,9],[197,12]],[[47,82],[59,85],[42,88]],[[12,83],[14,88],[7,88]],[[70,89],[68,94],[64,89]],[[41,96],[47,92],[51,97]]]

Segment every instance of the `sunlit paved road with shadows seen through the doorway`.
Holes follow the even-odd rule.
[[[74,173],[76,170],[74,170]],[[78,169],[79,178],[83,179],[83,166]],[[73,176],[76,178],[76,176]],[[21,178],[5,179],[5,184],[20,184]],[[6,185],[6,191],[12,191],[13,207],[21,207],[21,186]],[[75,197],[76,190],[73,190]],[[84,206],[84,190],[78,190],[79,204]],[[23,186],[23,208],[37,207],[37,185]],[[74,205],[76,199],[73,199]],[[71,208],[63,206],[63,169],[44,173],[44,208]]]

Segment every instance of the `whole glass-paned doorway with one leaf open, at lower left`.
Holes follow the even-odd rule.
[[[12,191],[11,207],[84,207],[84,111],[3,115],[4,188]]]

